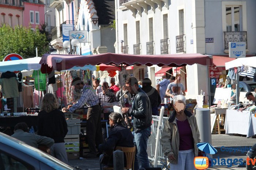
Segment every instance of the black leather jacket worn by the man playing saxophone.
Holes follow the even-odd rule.
[[[139,132],[151,126],[151,104],[147,94],[141,88],[133,96],[132,101],[132,109],[128,110],[128,115],[133,116],[134,131]]]

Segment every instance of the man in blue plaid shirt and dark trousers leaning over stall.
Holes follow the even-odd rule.
[[[99,106],[99,99],[93,88],[90,85],[84,84],[83,81],[76,77],[71,85],[76,89],[82,89],[82,96],[78,102],[70,108],[63,108],[63,112],[74,112],[76,109],[82,108],[84,104],[88,107],[87,111],[87,124],[86,124],[86,138],[90,153],[85,155],[84,158],[96,158],[97,151],[95,147],[103,143],[102,130],[101,130],[101,107]]]

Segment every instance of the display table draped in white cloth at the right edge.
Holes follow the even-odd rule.
[[[256,117],[251,111],[227,110],[224,128],[226,134],[241,134],[249,138],[256,134]]]

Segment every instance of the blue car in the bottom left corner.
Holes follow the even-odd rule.
[[[0,132],[0,170],[2,169],[73,170],[71,166],[49,154]]]

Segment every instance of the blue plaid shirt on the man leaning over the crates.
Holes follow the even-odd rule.
[[[87,107],[92,107],[99,104],[99,99],[90,85],[84,84],[82,89],[82,96],[79,98],[78,102],[69,108],[69,112],[74,112],[76,109],[81,108],[84,104]]]

